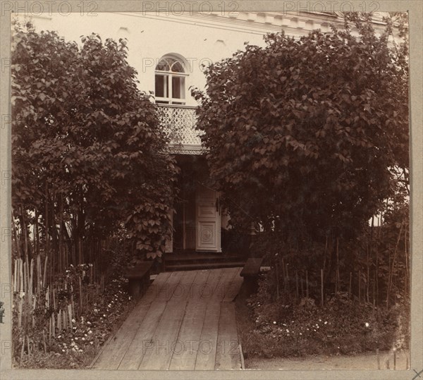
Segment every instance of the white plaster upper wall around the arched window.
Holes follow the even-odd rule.
[[[203,18],[204,19],[204,18]],[[221,20],[217,17],[206,18],[204,23],[199,16],[155,17],[148,13],[98,13],[97,16],[80,16],[73,13],[61,16],[54,13],[48,17],[34,17],[37,30],[56,30],[65,39],[80,43],[80,36],[98,33],[106,38],[128,39],[128,62],[138,72],[140,90],[154,91],[154,67],[165,54],[177,53],[187,59],[190,75],[187,78],[187,105],[196,105],[190,97],[188,88],[204,88],[205,78],[202,63],[218,61],[231,56],[244,43],[263,46],[264,32],[281,30],[275,25],[257,24],[241,17],[239,20]],[[218,21],[215,21],[218,20]],[[231,26],[231,23],[233,26]],[[238,26],[238,24],[241,25]],[[310,24],[312,26],[312,24]],[[314,25],[315,26],[315,25]]]

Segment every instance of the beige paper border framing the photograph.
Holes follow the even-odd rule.
[[[165,7],[166,3],[175,1],[149,1],[154,6]],[[355,370],[310,370],[310,371],[243,371],[243,372],[190,372],[190,371],[100,371],[94,369],[82,370],[44,370],[44,369],[11,369],[11,350],[7,349],[11,343],[11,294],[8,292],[11,278],[11,241],[10,241],[10,218],[11,215],[11,124],[7,116],[11,114],[10,108],[10,71],[6,62],[10,58],[10,11],[6,11],[10,5],[14,8],[25,9],[32,3],[41,3],[43,6],[51,6],[57,11],[62,3],[71,5],[72,10],[80,12],[81,4],[87,6],[89,3],[97,5],[97,12],[105,11],[142,11],[142,4],[146,1],[81,1],[81,0],[56,0],[56,1],[1,1],[0,2],[0,299],[4,302],[6,314],[4,324],[0,324],[0,377],[1,379],[400,379],[400,380],[423,380],[423,372],[418,376],[417,372],[423,370],[423,318],[422,318],[422,278],[423,278],[423,228],[422,228],[422,173],[423,173],[423,133],[422,133],[422,19],[423,1],[421,0],[384,0],[384,1],[231,1],[231,0],[181,0],[183,4],[192,4],[193,9],[199,4],[208,2],[214,9],[221,10],[225,3],[226,9],[232,3],[237,4],[237,11],[286,11],[288,8],[297,11],[299,7],[313,6],[323,3],[328,8],[339,11],[343,7],[348,11],[349,6],[354,10],[379,11],[409,11],[410,17],[410,154],[411,154],[411,237],[412,237],[412,329],[411,329],[411,361],[408,371],[355,371]],[[167,5],[168,6],[168,5]],[[219,8],[220,6],[220,8]],[[49,9],[49,8],[47,8]],[[329,10],[329,9],[328,9]]]

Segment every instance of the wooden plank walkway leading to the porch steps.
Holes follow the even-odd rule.
[[[92,368],[240,369],[241,269],[159,274]]]

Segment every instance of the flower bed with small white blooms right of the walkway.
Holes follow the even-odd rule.
[[[357,303],[340,293],[315,305],[312,298],[299,302],[272,300],[259,291],[236,300],[238,333],[245,360],[251,358],[357,355],[408,349],[407,316],[403,305],[374,307]],[[255,360],[255,359],[254,359]]]

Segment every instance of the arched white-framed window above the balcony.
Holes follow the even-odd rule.
[[[156,66],[156,103],[185,104],[185,63],[174,56],[164,56]]]

